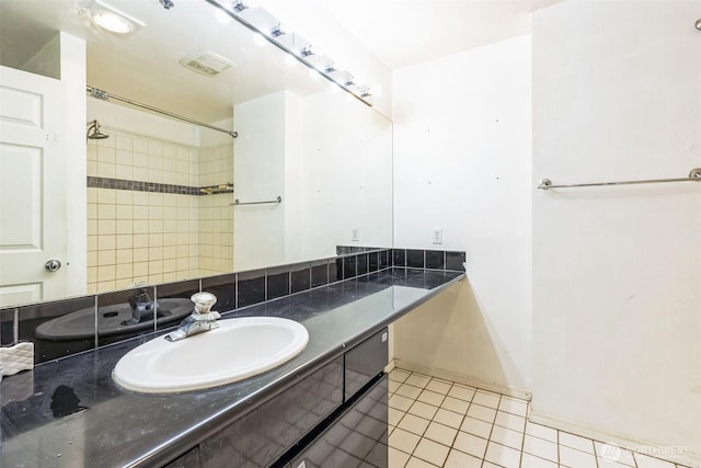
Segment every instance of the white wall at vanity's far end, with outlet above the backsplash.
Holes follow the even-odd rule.
[[[531,386],[530,90],[529,36],[393,78],[394,246],[466,250],[469,276],[397,323],[394,356],[516,392]]]

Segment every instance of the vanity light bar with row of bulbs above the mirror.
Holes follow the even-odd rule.
[[[231,18],[248,28],[261,33],[268,42],[295,57],[302,64],[315,69],[319,73],[335,83],[342,90],[372,105],[372,93],[366,84],[359,84],[353,79],[353,75],[346,70],[334,68],[333,60],[312,50],[311,44],[296,33],[280,28],[280,22],[263,8],[250,8],[243,0],[206,0],[217,8],[226,11]]]

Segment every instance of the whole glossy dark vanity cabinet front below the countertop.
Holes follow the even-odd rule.
[[[387,468],[387,329],[165,465]]]

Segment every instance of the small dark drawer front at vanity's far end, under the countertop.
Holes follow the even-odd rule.
[[[382,329],[345,354],[344,400],[384,370],[389,361],[388,331]]]

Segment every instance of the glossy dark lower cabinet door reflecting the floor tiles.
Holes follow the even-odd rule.
[[[388,377],[382,376],[291,463],[291,468],[387,468]]]

